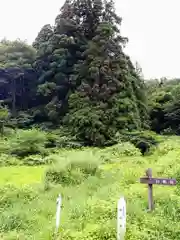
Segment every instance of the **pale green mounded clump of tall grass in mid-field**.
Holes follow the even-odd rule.
[[[55,184],[80,184],[89,176],[94,176],[99,172],[96,161],[87,159],[67,160],[51,166],[45,174],[45,181]]]

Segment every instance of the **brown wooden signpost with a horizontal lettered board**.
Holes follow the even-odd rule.
[[[157,185],[165,185],[165,186],[175,186],[176,179],[153,178],[152,169],[148,168],[146,170],[146,177],[140,178],[140,183],[144,183],[148,185],[148,205],[149,205],[149,210],[152,211],[154,209],[153,185],[157,184]]]

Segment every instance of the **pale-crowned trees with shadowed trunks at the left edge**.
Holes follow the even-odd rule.
[[[0,100],[13,117],[19,110],[27,110],[35,97],[37,77],[32,68],[35,59],[36,50],[26,42],[0,41]]]

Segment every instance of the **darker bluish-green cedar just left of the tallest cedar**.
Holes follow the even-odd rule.
[[[84,48],[81,49],[84,40],[80,39],[80,29],[71,19],[71,6],[68,9],[66,6],[56,17],[53,32],[50,32],[49,25],[45,25],[34,42],[38,49],[34,65],[41,71],[37,94],[42,104],[35,116],[53,122],[58,122],[59,116],[67,110],[68,96],[76,88],[74,65],[84,59]],[[45,36],[47,32],[49,37]]]

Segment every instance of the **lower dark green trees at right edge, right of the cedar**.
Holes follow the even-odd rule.
[[[159,84],[150,82],[148,90],[151,129],[158,133],[179,135],[179,79],[166,80]]]

